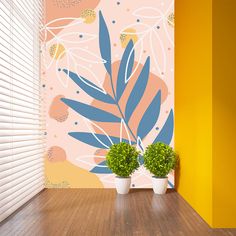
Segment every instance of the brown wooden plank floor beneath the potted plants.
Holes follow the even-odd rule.
[[[233,236],[236,230],[210,229],[174,191],[50,189],[2,222],[0,235]]]

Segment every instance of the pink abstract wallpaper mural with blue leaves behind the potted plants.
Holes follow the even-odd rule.
[[[140,164],[147,145],[174,145],[173,0],[47,0],[42,34],[46,187],[114,187],[111,144]],[[143,166],[132,187],[151,187]]]

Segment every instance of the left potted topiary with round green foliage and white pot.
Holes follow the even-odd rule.
[[[139,152],[128,143],[113,144],[106,155],[107,166],[117,176],[115,178],[116,190],[119,194],[129,192],[130,175],[139,167]]]

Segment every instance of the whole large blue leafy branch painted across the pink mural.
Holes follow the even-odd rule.
[[[145,10],[155,11],[155,9],[151,8]],[[143,18],[148,18],[143,11],[137,12],[137,14],[142,15]],[[76,73],[71,72],[69,69],[64,69],[63,71],[89,96],[104,103],[114,104],[114,107],[117,106],[117,108],[119,108],[120,117],[110,113],[109,111],[99,109],[96,107],[96,105],[92,106],[78,101],[62,98],[61,100],[66,105],[68,105],[70,108],[78,112],[83,117],[87,118],[88,119],[87,121],[90,120],[91,124],[93,125],[93,129],[90,129],[89,132],[71,132],[69,133],[69,135],[80,142],[83,142],[87,145],[103,150],[109,149],[109,147],[113,143],[120,143],[121,141],[126,143],[131,143],[131,145],[135,144],[136,147],[141,151],[141,154],[139,156],[139,162],[142,165],[143,164],[142,155],[145,150],[145,146],[143,145],[142,140],[153,129],[154,125],[156,124],[159,118],[160,107],[161,107],[161,90],[157,91],[153,100],[146,108],[143,117],[141,117],[139,124],[137,124],[138,126],[137,133],[133,131],[129,126],[129,120],[133,115],[133,112],[137,108],[139,102],[142,100],[144,92],[146,90],[150,75],[150,57],[146,59],[144,65],[141,65],[142,53],[140,53],[138,62],[134,63],[135,54],[139,55],[140,48],[141,52],[143,51],[143,39],[140,39],[135,45],[131,40],[128,43],[126,49],[124,50],[120,65],[117,64],[119,65],[119,69],[117,74],[117,82],[116,82],[117,84],[115,91],[114,84],[111,78],[112,62],[111,62],[110,36],[107,29],[107,25],[101,12],[99,12],[99,46],[102,57],[100,58],[101,61],[98,60],[99,57],[92,54],[90,54],[91,57],[89,57],[89,60],[94,56],[94,58],[96,59],[96,60],[92,59],[94,60],[94,63],[104,63],[106,71],[110,75],[113,97],[106,93],[106,91],[103,89],[103,86],[99,82],[98,85],[96,85],[92,83],[90,80],[80,76],[81,71],[80,72],[76,71]],[[154,52],[152,51],[152,53]],[[81,55],[79,55],[79,57],[81,57]],[[77,65],[79,64],[77,63]],[[132,83],[134,82],[134,85],[132,84],[133,89],[130,92],[130,95],[128,96],[126,105],[120,109],[118,101],[122,97],[129,79],[137,71],[138,67],[140,68],[142,67],[141,72],[139,73],[138,76],[135,75],[135,78],[137,77],[138,78],[136,81],[132,81]],[[83,67],[79,66],[79,68],[81,69]],[[161,69],[159,68],[159,70],[162,70],[162,68]],[[101,125],[100,127],[96,123],[92,123],[92,120],[97,122],[110,122],[110,123],[119,122],[120,123],[120,135],[118,135],[119,137],[115,137],[116,135],[110,136],[109,132],[107,133],[105,131],[105,128],[103,129],[103,127],[105,127],[106,124],[103,123],[104,126]],[[96,129],[96,131],[94,131],[94,126],[98,130]],[[133,141],[131,141],[129,135],[132,136]],[[159,141],[169,144],[171,142],[172,136],[173,136],[173,111],[171,110],[164,126],[162,127],[161,131],[157,135],[154,142]],[[90,172],[97,174],[110,174],[111,170],[107,167],[106,161],[102,160],[102,162],[97,164],[95,167],[93,164]]]

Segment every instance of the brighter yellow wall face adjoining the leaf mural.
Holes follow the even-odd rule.
[[[212,2],[175,1],[178,192],[212,224]],[[179,179],[179,180],[178,180]]]

